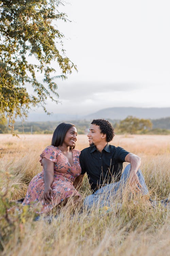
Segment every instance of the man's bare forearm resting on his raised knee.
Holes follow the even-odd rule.
[[[131,169],[130,169],[130,176],[129,176],[129,184],[130,186],[135,185],[138,190],[138,188],[141,187],[141,184],[139,183],[139,178],[137,176],[137,171],[141,165],[141,159],[139,156],[136,156],[132,153],[129,153],[125,157],[125,162],[129,162],[131,164]],[[138,185],[138,186],[137,186]]]

